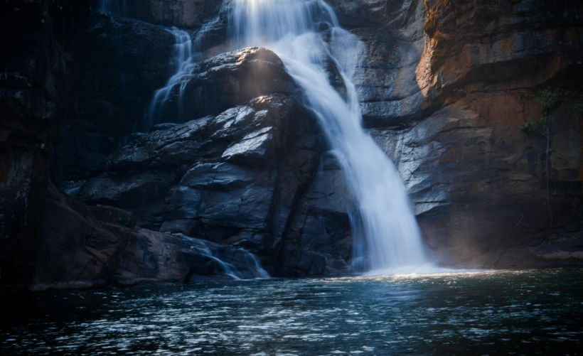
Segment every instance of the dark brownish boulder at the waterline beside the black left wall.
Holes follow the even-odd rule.
[[[106,286],[125,247],[124,234],[109,231],[84,204],[58,193],[53,185],[48,191],[42,253],[31,289]]]

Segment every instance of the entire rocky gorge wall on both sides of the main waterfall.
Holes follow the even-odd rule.
[[[563,100],[549,134],[520,127],[540,115],[539,90],[581,90],[582,4],[328,3],[365,44],[363,125],[397,165],[429,254],[455,267],[581,264],[582,118]],[[353,271],[341,168],[277,55],[230,51],[229,6],[1,4],[14,33],[0,76],[2,284],[218,280],[225,264],[260,276],[250,252],[272,275]],[[165,26],[188,31],[203,61],[157,125],[132,134],[173,75]]]

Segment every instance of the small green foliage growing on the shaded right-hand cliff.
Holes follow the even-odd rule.
[[[523,98],[533,98],[535,95],[520,94]],[[565,90],[562,87],[547,87],[547,89],[539,90],[536,99],[537,104],[540,104],[540,115],[537,118],[530,119],[528,122],[520,126],[520,129],[528,134],[545,134],[548,126],[548,118],[553,110],[564,100],[577,99],[577,102],[571,106],[571,112],[577,117],[583,116],[583,92],[575,92],[573,90]]]

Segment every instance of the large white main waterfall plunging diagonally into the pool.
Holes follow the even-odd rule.
[[[426,264],[405,185],[362,127],[351,80],[363,56],[363,43],[339,26],[323,0],[233,0],[228,36],[237,48],[258,45],[273,50],[303,88],[358,205],[351,215],[355,267],[381,270]],[[341,73],[346,99],[330,84],[329,65]]]

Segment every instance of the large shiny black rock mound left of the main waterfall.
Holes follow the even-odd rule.
[[[198,119],[134,134],[124,149],[103,161],[99,176],[87,180],[77,198],[132,211],[137,224],[150,230],[243,247],[262,257],[272,272],[322,273],[327,256],[340,257],[328,251],[340,239],[348,259],[347,210],[339,213],[342,217],[326,215],[343,220],[343,232],[302,237],[303,230],[318,227],[311,221],[304,227],[300,220],[309,215],[317,225],[322,215],[316,212],[318,204],[306,199],[317,201],[315,195],[323,194],[326,200],[333,187],[323,193],[310,190],[314,196],[300,203],[317,171],[323,142],[277,55],[246,48],[205,60],[195,73],[177,84],[183,99],[171,100],[175,104],[165,109],[169,117],[182,112],[183,119]],[[341,182],[338,168],[336,176]],[[318,185],[316,179],[313,187]],[[298,205],[302,212],[296,214]],[[291,228],[297,236],[289,236]],[[297,244],[297,238],[314,241]],[[288,252],[291,245],[297,251]],[[280,257],[289,253],[294,259]],[[312,266],[316,255],[321,263]],[[346,268],[344,259],[329,266]]]

